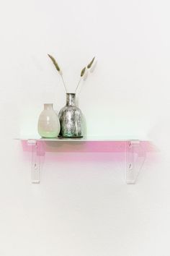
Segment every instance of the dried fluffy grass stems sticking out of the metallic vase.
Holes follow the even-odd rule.
[[[66,93],[67,93],[66,82],[64,82],[64,80],[63,80],[63,74],[62,74],[62,72],[61,72],[61,68],[58,66],[58,62],[55,60],[55,58],[54,58],[52,55],[48,54],[48,56],[50,57],[51,61],[53,62],[54,66],[55,66],[55,69],[57,69],[58,73],[61,75],[61,79],[62,79],[62,81],[63,81],[63,86],[64,86],[64,88],[65,88],[65,90],[66,90]],[[79,82],[78,82],[78,84],[77,84],[77,86],[76,86],[75,93],[76,93],[76,91],[78,90],[79,85],[81,84],[81,81],[82,81],[83,79],[86,80],[86,77],[87,77],[87,75],[88,75],[89,69],[91,69],[92,65],[94,64],[94,59],[95,59],[95,57],[90,61],[90,63],[89,63],[86,67],[84,67],[84,68],[81,70]]]

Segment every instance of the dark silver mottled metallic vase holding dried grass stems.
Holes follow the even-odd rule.
[[[66,93],[66,106],[58,114],[61,123],[61,132],[58,137],[83,137],[83,116],[76,106],[76,94]]]

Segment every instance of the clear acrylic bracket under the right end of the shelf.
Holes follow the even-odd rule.
[[[135,184],[146,160],[146,150],[140,140],[126,142],[126,183]]]

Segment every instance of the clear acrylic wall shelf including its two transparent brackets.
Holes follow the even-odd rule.
[[[27,142],[27,145],[31,147],[32,153],[32,171],[31,171],[31,180],[32,183],[40,183],[40,168],[41,168],[41,158],[45,156],[45,153],[41,153],[42,143],[68,143],[73,147],[76,145],[75,142],[82,142],[83,144],[95,143],[97,147],[102,147],[102,143],[112,143],[115,145],[117,142],[125,142],[125,180],[127,184],[135,184],[140,169],[143,166],[143,163],[146,159],[146,148],[143,146],[146,142],[149,142],[146,139],[138,139],[136,137],[125,137],[125,138],[110,138],[110,137],[83,137],[78,139],[63,139],[63,138],[28,138],[22,137],[17,138],[16,140],[20,140],[22,142]],[[75,144],[74,144],[75,143]],[[95,151],[95,150],[94,150]],[[91,150],[89,151],[91,152]]]

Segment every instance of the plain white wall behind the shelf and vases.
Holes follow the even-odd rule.
[[[1,1],[1,256],[170,254],[169,22],[165,0]],[[48,153],[30,184],[30,153],[13,138],[37,134],[43,103],[65,102],[47,53],[70,92],[97,56],[79,95],[88,135],[153,140],[135,186],[118,153]]]

